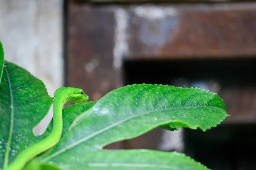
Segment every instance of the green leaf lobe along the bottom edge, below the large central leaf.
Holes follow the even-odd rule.
[[[58,160],[55,160],[58,159]],[[71,153],[42,164],[43,170],[209,170],[183,153],[154,150],[100,150]],[[77,160],[78,159],[78,160]],[[84,164],[84,162],[87,162]]]

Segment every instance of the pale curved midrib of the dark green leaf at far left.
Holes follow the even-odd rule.
[[[4,164],[3,168],[6,168],[9,162],[9,155],[10,155],[10,149],[11,148],[11,142],[12,142],[12,133],[13,133],[13,124],[14,124],[14,104],[13,104],[13,95],[12,95],[12,85],[9,77],[9,73],[4,67],[4,70],[6,71],[6,77],[8,80],[8,85],[9,85],[9,91],[10,91],[10,99],[11,99],[11,125],[10,125],[10,132],[9,132],[9,138],[8,138],[8,143],[6,146],[6,153],[5,153],[5,158],[4,158]]]

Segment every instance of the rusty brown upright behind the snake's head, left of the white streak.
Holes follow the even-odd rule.
[[[84,89],[89,100],[121,86],[113,70],[114,26],[113,12],[105,7],[68,4],[66,84]],[[122,148],[122,142],[107,148]]]

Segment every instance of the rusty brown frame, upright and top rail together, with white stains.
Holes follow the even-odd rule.
[[[91,6],[70,1],[66,85],[98,100],[124,85],[125,59],[255,57],[255,18],[256,3]],[[123,147],[117,142],[107,148]]]

